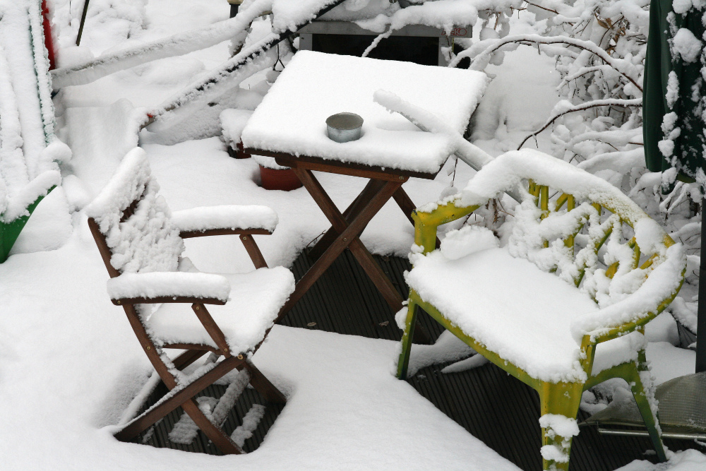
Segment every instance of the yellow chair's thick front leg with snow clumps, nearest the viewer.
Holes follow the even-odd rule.
[[[539,390],[542,405],[539,424],[542,427],[543,470],[568,470],[571,439],[578,435],[576,416],[582,392],[582,383],[542,383],[542,389]]]

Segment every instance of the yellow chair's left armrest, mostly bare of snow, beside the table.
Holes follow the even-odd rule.
[[[412,213],[414,244],[421,247],[424,254],[434,251],[437,227],[467,216],[480,207],[481,205],[462,205],[460,198],[455,197],[420,206]]]

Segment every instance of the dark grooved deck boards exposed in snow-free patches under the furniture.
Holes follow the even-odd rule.
[[[402,273],[409,270],[409,262],[398,257],[375,258],[400,294],[406,297],[407,286]],[[312,263],[306,254],[301,254],[292,267],[295,278],[299,280]],[[430,316],[420,313],[419,321],[433,339],[441,334],[441,326]],[[316,324],[309,326],[311,323]],[[349,251],[337,258],[282,324],[388,340],[400,340],[401,336],[394,313]],[[408,381],[439,410],[522,470],[542,469],[537,393],[493,364],[455,374],[441,373],[443,366],[429,366]],[[203,394],[217,397],[224,390],[224,386],[211,386]],[[160,391],[155,391],[152,402],[157,393]],[[253,403],[263,403],[261,401],[255,390],[246,389],[230,412],[226,431],[231,433],[249,407]],[[253,451],[262,443],[280,411],[281,406],[268,405],[260,427],[245,443],[246,451]],[[201,432],[188,446],[169,441],[169,430],[179,420],[181,412],[180,407],[157,424],[147,443],[220,454]],[[584,415],[581,412],[580,419],[585,418]],[[665,442],[671,450],[696,447],[689,441]],[[633,460],[654,460],[654,455],[649,439],[601,436],[593,427],[582,427],[574,439],[571,458],[571,471],[612,471]]]

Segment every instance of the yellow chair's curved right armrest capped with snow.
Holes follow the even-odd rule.
[[[676,297],[684,282],[686,255],[681,244],[666,249],[666,257],[642,285],[625,299],[579,316],[571,323],[576,342],[585,336],[599,343],[632,332],[652,321]]]

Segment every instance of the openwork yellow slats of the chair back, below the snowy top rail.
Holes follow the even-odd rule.
[[[573,282],[604,307],[642,285],[674,244],[666,234],[662,242],[643,251],[619,206],[576,201],[570,194],[530,182],[515,209],[508,248],[514,256]]]

